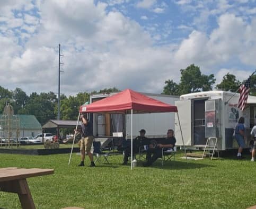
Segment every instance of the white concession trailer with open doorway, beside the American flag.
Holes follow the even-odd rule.
[[[205,145],[207,138],[216,137],[218,150],[237,148],[233,132],[239,117],[244,116],[246,145],[249,147],[250,130],[256,122],[256,97],[249,96],[243,112],[237,107],[238,100],[239,94],[224,91],[181,95],[180,101],[175,101],[175,105],[178,107],[185,146],[196,149]],[[175,137],[176,144],[182,146],[176,117]]]

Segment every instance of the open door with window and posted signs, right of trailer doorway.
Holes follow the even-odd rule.
[[[220,99],[205,101],[205,137],[220,138]],[[220,140],[218,140],[220,142]],[[218,143],[219,144],[219,143]]]

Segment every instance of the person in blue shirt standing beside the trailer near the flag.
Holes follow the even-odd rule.
[[[236,127],[235,127],[235,139],[239,144],[237,151],[237,158],[242,158],[242,151],[245,148],[245,128],[244,128],[244,117],[240,117]]]

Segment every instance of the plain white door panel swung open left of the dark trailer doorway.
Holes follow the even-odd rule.
[[[186,146],[191,146],[191,100],[175,101],[175,106],[177,106],[180,116],[180,124],[184,143]],[[176,145],[183,146],[177,114],[175,114],[175,138]]]

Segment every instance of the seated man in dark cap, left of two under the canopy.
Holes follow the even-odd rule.
[[[149,144],[149,140],[145,137],[146,131],[144,129],[142,129],[139,131],[139,133],[140,133],[140,135],[138,137],[136,137],[133,141],[133,153],[138,153],[140,147]],[[131,145],[129,144],[129,146],[127,146],[124,149],[124,151],[125,151],[125,156],[123,158],[122,165],[127,165],[128,156],[131,153]]]

